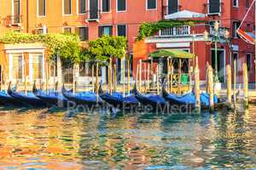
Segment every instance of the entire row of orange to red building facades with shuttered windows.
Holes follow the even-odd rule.
[[[0,0],[0,34],[10,30],[34,34],[72,32],[79,34],[83,42],[104,34],[125,36],[129,42],[127,54],[133,57],[133,68],[136,68],[138,59],[146,59],[156,49],[180,48],[199,57],[201,80],[205,80],[207,62],[213,65],[214,44],[203,40],[203,32],[207,30],[211,36],[211,26],[183,26],[178,28],[183,30],[180,33],[173,33],[173,28],[166,28],[158,35],[146,38],[144,42],[136,42],[138,28],[143,22],[164,20],[169,14],[189,10],[206,14],[208,25],[217,20],[221,28],[230,31],[231,50],[227,43],[218,42],[219,76],[224,77],[225,65],[232,63],[235,58],[238,62],[237,74],[241,75],[241,63],[247,62],[251,77],[249,80],[253,80],[253,45],[236,35],[236,28],[252,2],[253,0],[195,0],[193,3],[188,0]],[[253,15],[245,21],[247,31],[253,31]],[[136,75],[136,69],[133,70]]]

